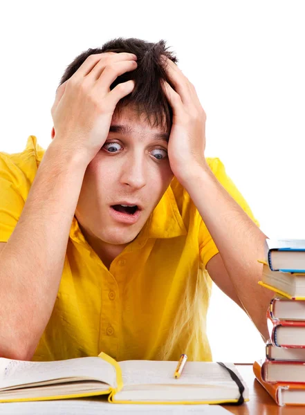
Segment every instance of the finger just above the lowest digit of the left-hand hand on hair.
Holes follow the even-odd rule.
[[[137,63],[134,60],[115,62],[109,64],[104,68],[102,74],[95,84],[95,89],[98,93],[107,93],[113,81],[125,72],[134,71],[137,67]]]

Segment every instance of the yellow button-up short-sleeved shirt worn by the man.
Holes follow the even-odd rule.
[[[0,153],[0,242],[15,228],[44,149],[35,136],[19,154]],[[255,221],[243,196],[225,174],[219,158],[207,158],[212,172]],[[257,223],[257,222],[256,222]],[[258,223],[257,223],[258,224]],[[205,320],[212,281],[205,270],[218,252],[190,196],[174,178],[138,237],[108,270],[89,246],[74,217],[53,313],[33,360],[98,356],[116,360],[158,359],[189,284],[201,280],[203,337],[200,360],[212,360]],[[41,275],[44,278],[44,275]],[[192,324],[181,331],[169,359],[185,350]],[[198,356],[197,356],[198,358]]]

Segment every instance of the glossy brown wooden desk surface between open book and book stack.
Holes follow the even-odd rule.
[[[252,365],[237,365],[239,373],[245,380],[249,388],[249,402],[241,406],[233,407],[230,405],[223,405],[225,409],[238,415],[304,415],[305,406],[293,407],[279,407],[271,396],[261,386],[252,371]]]

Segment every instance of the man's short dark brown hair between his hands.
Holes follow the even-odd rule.
[[[167,49],[168,47],[165,45],[164,40],[160,40],[157,43],[150,43],[142,39],[124,39],[119,37],[105,43],[101,48],[90,48],[75,57],[73,62],[66,68],[59,85],[68,80],[80,68],[89,55],[104,52],[134,53],[138,57],[137,68],[134,71],[126,72],[117,77],[110,87],[113,89],[121,82],[135,80],[133,91],[118,102],[115,107],[115,113],[120,113],[128,104],[133,104],[133,107],[137,111],[147,115],[147,119],[153,126],[161,124],[169,132],[172,125],[172,108],[169,102],[167,102],[165,93],[160,85],[160,80],[165,80],[169,84],[171,82],[169,81],[164,63],[162,63],[160,57],[161,55],[165,55],[174,63],[178,62],[178,59],[174,53],[169,52]]]

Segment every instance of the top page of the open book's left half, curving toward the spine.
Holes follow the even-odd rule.
[[[0,389],[47,380],[91,379],[116,387],[115,369],[102,358],[28,362],[0,358]],[[108,387],[105,388],[107,390]]]

